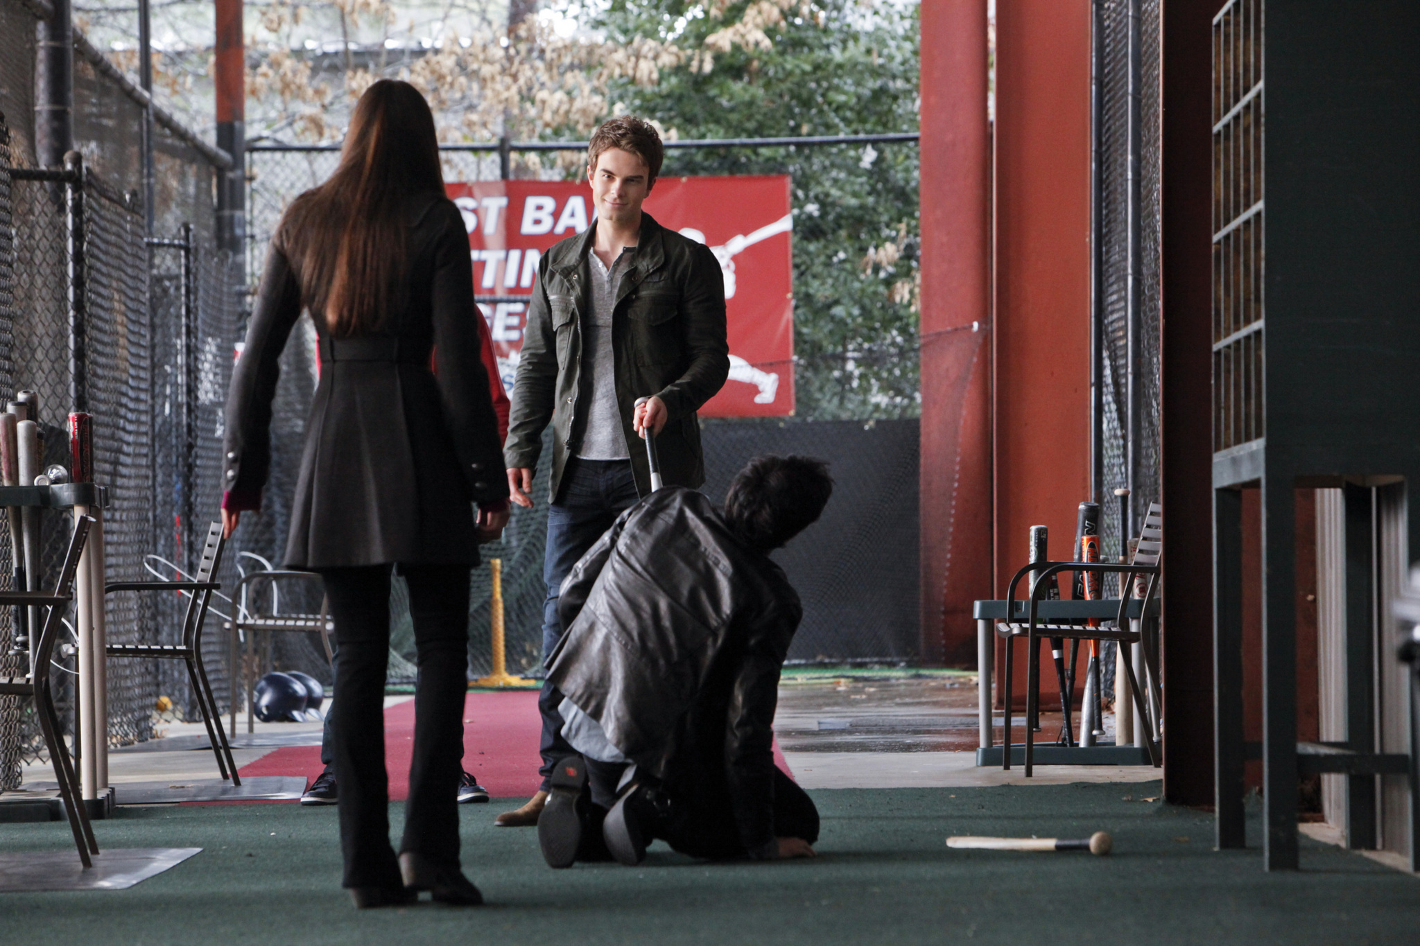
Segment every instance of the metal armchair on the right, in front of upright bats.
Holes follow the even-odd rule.
[[[1154,591],[1159,586],[1159,560],[1163,555],[1163,508],[1157,502],[1149,503],[1149,512],[1145,516],[1145,526],[1139,536],[1139,547],[1135,552],[1133,562],[1129,564],[1103,563],[1103,562],[1035,562],[1025,566],[1015,573],[1011,579],[1011,584],[1007,589],[1007,606],[1008,614],[1015,614],[1015,586],[1028,573],[1035,573],[1035,581],[1031,586],[1030,606],[1027,608],[1027,621],[1022,623],[998,623],[995,625],[997,634],[1005,638],[1005,752],[1003,753],[1001,767],[1011,767],[1011,752],[1010,752],[1010,736],[1011,736],[1011,672],[1014,667],[1014,647],[1012,642],[1018,637],[1024,637],[1027,641],[1027,685],[1025,685],[1025,776],[1030,777],[1032,772],[1032,750],[1035,745],[1034,720],[1039,712],[1039,688],[1041,688],[1041,647],[1039,641],[1042,637],[1052,638],[1069,638],[1069,640],[1089,640],[1089,641],[1116,641],[1120,647],[1139,644],[1143,650],[1145,665],[1149,671],[1149,692],[1153,698],[1152,701],[1145,699],[1145,692],[1139,688],[1139,681],[1135,678],[1135,668],[1130,661],[1120,661],[1125,665],[1125,672],[1129,677],[1129,692],[1133,695],[1135,706],[1139,711],[1140,719],[1149,730],[1145,739],[1149,745],[1149,759],[1153,762],[1154,767],[1162,764],[1160,756],[1160,736],[1162,728],[1156,713],[1150,712],[1150,705],[1162,706],[1163,699],[1159,692],[1159,652],[1154,647],[1153,634],[1146,633],[1145,628],[1145,614],[1149,613],[1149,601],[1153,599]],[[1051,579],[1059,572],[1096,572],[1100,574],[1123,574],[1123,591],[1119,596],[1119,614],[1115,618],[1115,627],[1106,628],[1103,625],[1089,625],[1089,624],[1041,624],[1037,620],[1037,606],[1039,604],[1042,596],[1051,584]],[[1149,577],[1147,584],[1140,591],[1143,584],[1140,579]],[[1142,608],[1139,618],[1130,618],[1129,610],[1133,599],[1142,599]]]

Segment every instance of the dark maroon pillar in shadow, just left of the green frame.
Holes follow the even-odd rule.
[[[1163,4],[1163,791],[1213,804],[1211,21]]]

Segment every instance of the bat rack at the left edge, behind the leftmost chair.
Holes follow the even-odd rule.
[[[108,784],[108,679],[105,668],[106,631],[104,621],[104,509],[108,486],[70,482],[53,486],[0,486],[0,509],[57,509],[78,519],[94,516],[78,574],[74,577],[74,634],[78,677],[75,678],[74,762],[81,796],[91,818],[114,811],[114,789]],[[30,581],[45,587],[43,574]],[[38,608],[34,608],[37,611]],[[28,625],[40,625],[30,614]],[[33,804],[33,798],[30,798]]]

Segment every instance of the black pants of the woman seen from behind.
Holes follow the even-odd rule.
[[[398,888],[385,774],[385,671],[392,566],[321,569],[335,621],[332,723],[345,886]],[[469,566],[402,564],[419,677],[405,837],[399,850],[459,865],[459,774],[469,692]]]

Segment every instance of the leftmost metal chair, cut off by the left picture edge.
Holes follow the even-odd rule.
[[[94,867],[94,859],[89,855],[98,854],[98,841],[94,838],[92,825],[89,825],[88,810],[84,807],[80,780],[74,773],[74,759],[70,756],[68,746],[64,745],[60,715],[54,709],[50,661],[54,657],[54,641],[64,623],[65,606],[74,597],[74,573],[80,567],[80,555],[84,552],[84,542],[88,539],[92,523],[94,516],[80,516],[74,522],[74,535],[70,538],[68,552],[64,553],[64,566],[60,569],[60,580],[54,594],[0,591],[0,606],[50,606],[48,616],[44,618],[44,630],[40,631],[40,641],[34,648],[34,665],[26,677],[0,677],[0,695],[28,696],[34,701],[34,715],[40,720],[44,746],[50,752],[50,764],[54,766],[54,779],[60,783],[60,798],[68,813],[70,830],[74,831],[74,845],[80,850],[80,861],[84,862],[84,867]]]

